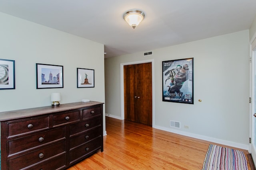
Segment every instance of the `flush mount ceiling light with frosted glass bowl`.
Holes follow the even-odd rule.
[[[124,13],[124,20],[133,27],[133,29],[140,24],[144,19],[144,12],[139,10],[129,10]]]

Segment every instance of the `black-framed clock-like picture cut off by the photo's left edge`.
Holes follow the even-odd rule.
[[[15,61],[0,59],[0,90],[15,89]]]

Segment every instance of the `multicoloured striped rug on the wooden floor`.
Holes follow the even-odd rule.
[[[210,144],[202,170],[248,170],[244,152]]]

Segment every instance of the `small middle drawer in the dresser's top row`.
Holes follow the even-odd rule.
[[[76,121],[80,121],[79,110],[53,116],[53,126],[62,125],[65,123],[73,123]]]

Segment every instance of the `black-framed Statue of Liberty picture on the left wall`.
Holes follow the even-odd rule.
[[[94,70],[77,68],[77,88],[94,87]]]

